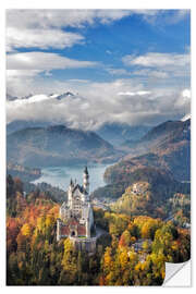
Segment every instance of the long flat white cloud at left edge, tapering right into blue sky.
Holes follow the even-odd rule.
[[[98,63],[69,59],[57,53],[24,52],[12,53],[7,57],[8,70],[39,70],[91,68]]]

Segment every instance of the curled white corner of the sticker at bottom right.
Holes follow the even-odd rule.
[[[191,260],[181,264],[166,262],[163,286],[191,286]]]

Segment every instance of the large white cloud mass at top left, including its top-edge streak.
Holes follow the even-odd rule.
[[[98,24],[109,25],[131,15],[139,15],[150,24],[177,23],[188,10],[7,10],[8,51],[17,48],[66,48],[84,44],[82,28]],[[164,17],[162,20],[162,17]],[[78,32],[70,32],[70,28]],[[108,50],[109,52],[109,50]]]

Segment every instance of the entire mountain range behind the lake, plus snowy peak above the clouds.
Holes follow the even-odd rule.
[[[29,95],[20,99],[8,95],[7,98],[10,103],[17,105],[50,99],[66,101],[77,97],[77,94],[65,91],[61,95]],[[54,125],[52,121],[13,121],[7,125],[7,158],[11,163],[40,168],[115,162],[105,173],[110,185],[109,193],[113,184],[121,183],[119,186],[124,189],[133,179],[136,181],[137,175],[139,180],[149,171],[152,177],[159,171],[171,174],[175,181],[189,181],[191,177],[188,117],[154,127],[105,123],[95,132],[72,128],[69,124]]]

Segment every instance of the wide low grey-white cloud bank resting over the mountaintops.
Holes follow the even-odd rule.
[[[66,123],[72,127],[96,130],[103,123],[111,122],[131,125],[158,124],[166,120],[181,119],[189,112],[189,98],[183,97],[187,94],[184,94],[185,89],[147,89],[131,78],[108,83],[86,81],[77,85],[69,81],[54,81],[51,85],[42,84],[39,79],[34,83],[34,88],[39,94],[61,94],[66,90],[78,94],[62,100],[54,99],[54,96],[48,99],[46,95],[41,95],[33,97],[30,102],[9,101],[8,122],[44,120]],[[23,82],[23,85],[25,84],[26,81]]]

